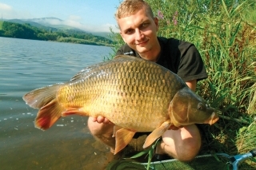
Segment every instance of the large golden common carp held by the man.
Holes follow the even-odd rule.
[[[35,126],[43,130],[70,114],[108,118],[117,126],[114,153],[135,132],[151,132],[143,145],[146,148],[170,125],[218,121],[215,109],[169,69],[124,55],[82,69],[66,83],[34,89],[23,99],[39,109]]]

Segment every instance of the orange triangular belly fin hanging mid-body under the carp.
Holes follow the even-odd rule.
[[[132,140],[135,132],[126,128],[120,128],[115,133],[115,149],[114,155],[126,147]]]

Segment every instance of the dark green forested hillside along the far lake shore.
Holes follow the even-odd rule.
[[[112,45],[110,39],[86,33],[82,30],[58,30],[51,27],[38,28],[28,23],[19,24],[6,21],[0,21],[0,37],[71,42],[86,45]]]

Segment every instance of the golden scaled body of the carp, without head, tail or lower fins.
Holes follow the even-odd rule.
[[[65,109],[79,108],[82,114],[107,117],[122,128],[150,132],[170,119],[170,101],[184,87],[159,65],[118,58],[82,70],[58,89],[56,98]]]

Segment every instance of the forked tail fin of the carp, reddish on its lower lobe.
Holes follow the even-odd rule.
[[[60,86],[61,84],[56,84],[34,89],[23,96],[23,100],[26,101],[27,105],[40,109],[34,121],[36,128],[46,130],[62,116],[64,110],[56,100],[56,93]]]

